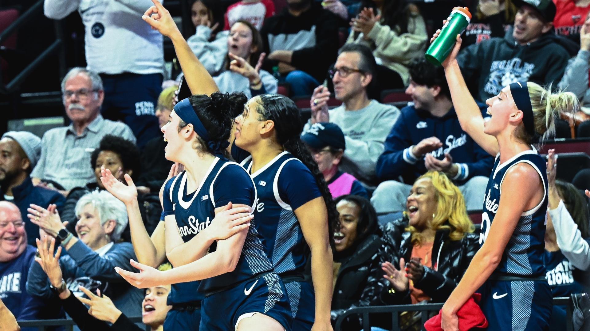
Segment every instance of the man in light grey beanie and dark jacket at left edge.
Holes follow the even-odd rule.
[[[31,203],[38,206],[57,205],[57,210],[65,204],[65,198],[54,190],[34,186],[29,174],[37,164],[41,154],[41,139],[26,131],[10,131],[0,139],[0,201],[11,201],[27,214]],[[28,244],[35,245],[39,237],[39,227],[31,222],[24,224]]]

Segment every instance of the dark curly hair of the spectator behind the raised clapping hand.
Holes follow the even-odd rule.
[[[90,166],[96,167],[96,159],[99,157],[101,151],[112,151],[119,155],[123,163],[123,170],[132,170],[132,178],[139,175],[139,150],[137,146],[131,141],[117,137],[116,135],[107,134],[101,140],[99,148],[96,148],[90,155]]]

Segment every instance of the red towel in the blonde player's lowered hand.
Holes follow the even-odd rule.
[[[487,327],[486,316],[483,315],[480,306],[477,304],[481,300],[480,293],[474,293],[457,312],[459,318],[459,330],[471,330],[474,327]],[[424,327],[427,331],[443,331],[441,327],[442,309],[437,316],[427,320]]]

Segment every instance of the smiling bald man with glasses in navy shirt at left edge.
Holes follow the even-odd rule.
[[[13,203],[0,201],[0,299],[18,321],[55,318],[52,305],[27,293],[31,263],[35,263],[35,247],[27,245],[21,211]]]

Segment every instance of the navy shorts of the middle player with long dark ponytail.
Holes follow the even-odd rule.
[[[285,287],[291,304],[293,330],[311,330],[316,316],[316,299],[312,284],[296,281],[285,283]]]

